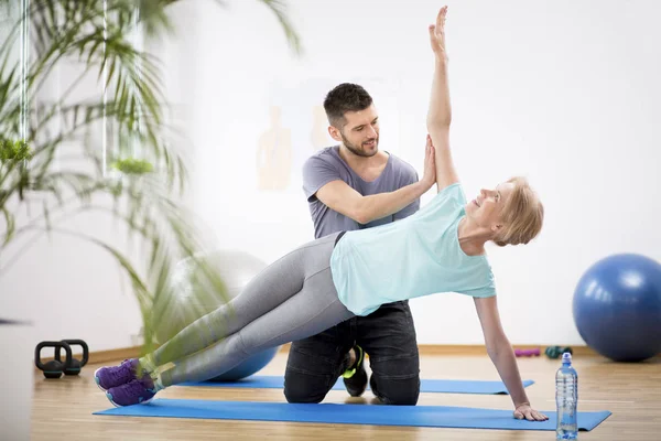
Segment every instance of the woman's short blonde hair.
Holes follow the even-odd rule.
[[[514,176],[507,182],[514,184],[514,189],[502,207],[502,227],[494,238],[500,247],[528,244],[542,230],[544,223],[544,206],[528,180]]]

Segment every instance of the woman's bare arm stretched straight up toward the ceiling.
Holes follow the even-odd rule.
[[[447,7],[441,8],[436,24],[430,25],[430,42],[434,52],[434,79],[427,111],[427,131],[436,149],[436,185],[441,191],[459,179],[449,151],[449,123],[452,108],[447,86],[447,53],[445,51],[445,15]]]

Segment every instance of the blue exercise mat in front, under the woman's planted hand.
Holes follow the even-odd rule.
[[[155,399],[147,405],[118,407],[94,415],[195,418],[214,420],[289,421],[330,424],[408,426],[463,429],[555,430],[548,421],[517,420],[511,410],[443,406],[290,405],[286,402]],[[609,411],[578,412],[581,430],[593,430]]]

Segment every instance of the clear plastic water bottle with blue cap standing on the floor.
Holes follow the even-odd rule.
[[[568,352],[562,354],[562,366],[555,374],[555,404],[557,406],[555,439],[575,440],[578,437],[578,375],[572,367],[572,354]]]

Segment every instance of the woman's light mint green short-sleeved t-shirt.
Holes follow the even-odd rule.
[[[339,300],[354,314],[368,315],[381,304],[438,292],[496,295],[487,257],[459,247],[465,205],[455,183],[404,219],[347,232],[330,256]]]

